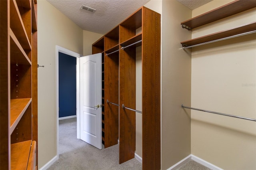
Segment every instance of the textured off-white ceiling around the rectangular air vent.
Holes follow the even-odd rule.
[[[106,34],[149,0],[47,0],[83,30]],[[178,0],[190,9],[211,0]],[[92,13],[82,5],[96,9]]]

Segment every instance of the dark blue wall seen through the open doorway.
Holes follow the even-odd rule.
[[[76,57],[59,52],[59,117],[76,115]]]

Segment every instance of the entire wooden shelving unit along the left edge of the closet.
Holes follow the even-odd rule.
[[[0,169],[34,170],[37,166],[37,4],[34,0],[6,0],[0,1],[0,8]]]

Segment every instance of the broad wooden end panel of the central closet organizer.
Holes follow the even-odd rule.
[[[142,169],[160,170],[160,14],[142,16]]]

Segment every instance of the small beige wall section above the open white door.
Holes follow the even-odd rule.
[[[90,31],[83,31],[83,47],[84,47],[84,53],[83,55],[91,55],[92,54],[92,44],[96,42],[98,39],[100,39],[102,34],[98,34],[95,32],[90,32]]]

